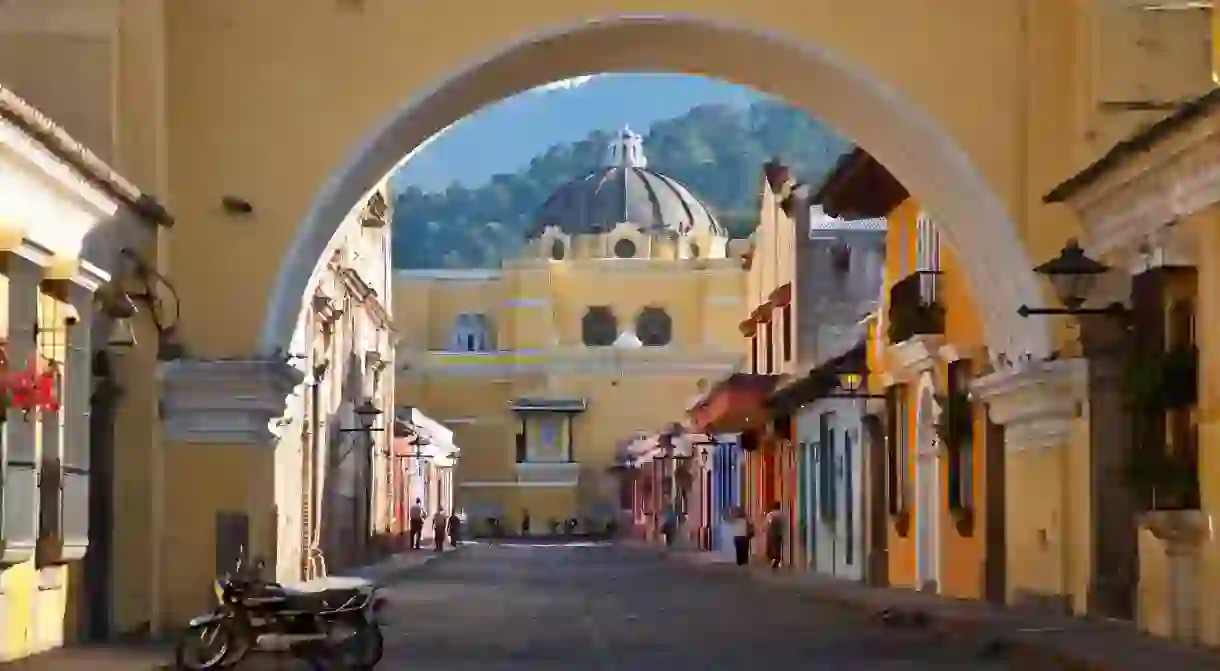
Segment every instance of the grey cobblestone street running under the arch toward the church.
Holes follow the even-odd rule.
[[[387,597],[387,669],[1013,669],[977,647],[621,547],[475,544]]]

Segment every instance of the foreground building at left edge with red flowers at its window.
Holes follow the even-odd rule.
[[[117,321],[132,316],[115,295],[171,223],[0,87],[0,661],[78,639],[106,597],[109,567],[98,558],[111,547],[94,533],[96,501],[116,484],[106,449],[116,389],[105,368],[129,344]]]

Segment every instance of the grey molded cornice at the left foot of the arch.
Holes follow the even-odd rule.
[[[305,375],[279,360],[176,360],[160,365],[161,420],[171,443],[273,445],[271,423]]]

